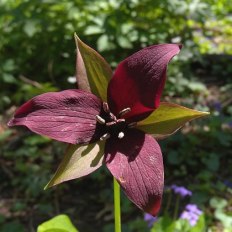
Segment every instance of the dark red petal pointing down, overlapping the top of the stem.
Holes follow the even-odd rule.
[[[128,198],[155,216],[164,184],[162,153],[156,140],[131,129],[122,139],[108,139],[105,154],[108,169]]]

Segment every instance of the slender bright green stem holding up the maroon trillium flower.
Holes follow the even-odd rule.
[[[121,232],[120,186],[114,178],[114,225],[115,232]]]

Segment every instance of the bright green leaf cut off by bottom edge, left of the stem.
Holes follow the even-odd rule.
[[[37,232],[78,232],[67,215],[61,214],[39,225]]]

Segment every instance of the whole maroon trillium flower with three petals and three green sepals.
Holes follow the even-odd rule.
[[[77,82],[86,91],[36,96],[16,111],[8,125],[26,126],[73,144],[47,187],[88,175],[106,164],[128,198],[155,216],[164,185],[162,153],[155,138],[172,134],[204,114],[160,104],[167,65],[181,46],[144,48],[123,60],[112,74],[96,51],[78,37],[76,41]]]

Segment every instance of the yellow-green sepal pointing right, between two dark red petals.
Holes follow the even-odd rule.
[[[161,102],[150,116],[138,123],[138,128],[161,139],[180,129],[186,122],[208,115],[177,104]]]

